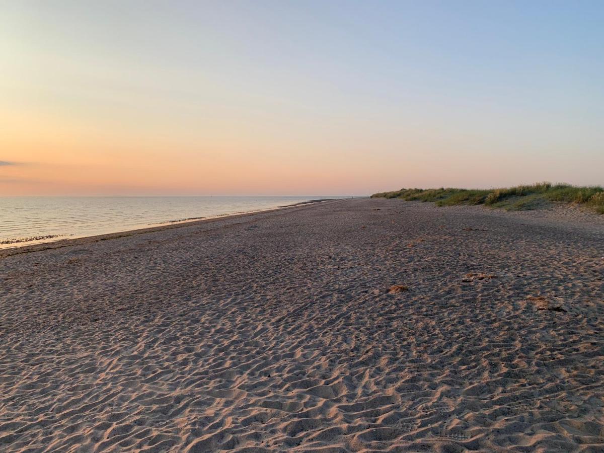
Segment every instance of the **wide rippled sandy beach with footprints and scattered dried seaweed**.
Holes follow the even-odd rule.
[[[1,451],[604,451],[604,216],[355,199],[121,236],[0,252]]]

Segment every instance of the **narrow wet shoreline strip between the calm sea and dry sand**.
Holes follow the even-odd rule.
[[[135,236],[137,234],[146,234],[153,233],[155,231],[163,231],[163,230],[171,230],[172,228],[179,228],[181,226],[194,225],[196,223],[204,223],[204,222],[214,222],[220,219],[227,218],[236,218],[236,217],[245,217],[251,216],[254,214],[261,214],[267,212],[274,212],[280,210],[286,210],[288,208],[296,208],[296,207],[306,207],[312,206],[316,204],[323,204],[327,202],[335,202],[339,200],[345,200],[346,198],[327,198],[327,199],[318,199],[318,200],[309,200],[304,202],[298,202],[291,205],[283,205],[277,206],[274,208],[266,208],[259,209],[253,211],[245,211],[240,213],[233,214],[217,214],[216,216],[208,216],[208,217],[199,217],[193,219],[182,219],[182,220],[169,220],[167,222],[161,222],[157,224],[153,224],[152,226],[144,226],[141,228],[133,228],[130,230],[123,231],[114,231],[113,233],[102,233],[102,234],[92,234],[90,236],[60,236],[55,240],[48,240],[44,242],[33,242],[30,241],[28,243],[11,243],[11,244],[3,244],[0,245],[0,260],[9,256],[19,255],[22,253],[31,253],[49,249],[62,248],[69,245],[77,245],[89,242],[98,242],[101,240],[111,240],[118,239],[120,237],[129,237]],[[14,251],[14,253],[10,253]]]

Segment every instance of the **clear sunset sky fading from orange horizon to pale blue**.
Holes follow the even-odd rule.
[[[604,184],[602,1],[0,10],[0,196]]]

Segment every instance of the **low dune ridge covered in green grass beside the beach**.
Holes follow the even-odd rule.
[[[498,189],[401,189],[374,193],[371,198],[402,198],[406,201],[432,201],[438,206],[487,205],[510,211],[535,209],[549,202],[577,203],[604,214],[604,188],[539,182]]]

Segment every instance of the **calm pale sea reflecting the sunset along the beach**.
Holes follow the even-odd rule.
[[[330,197],[0,197],[0,248],[40,242],[40,236],[115,233],[319,198]]]

